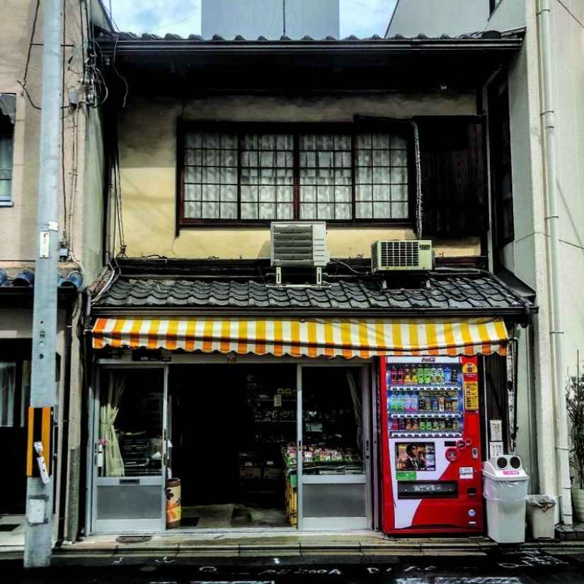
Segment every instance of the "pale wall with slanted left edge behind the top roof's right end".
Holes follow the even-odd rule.
[[[386,37],[451,37],[484,30],[488,0],[398,0]]]

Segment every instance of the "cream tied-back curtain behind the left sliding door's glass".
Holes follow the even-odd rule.
[[[126,379],[110,374],[107,395],[101,398],[99,435],[105,440],[103,456],[103,476],[124,476],[124,461],[120,452],[118,435],[115,433],[115,418],[120,411]]]

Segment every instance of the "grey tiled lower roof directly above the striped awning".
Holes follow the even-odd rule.
[[[339,279],[322,287],[287,287],[254,280],[119,276],[96,296],[93,308],[108,312],[115,309],[148,309],[151,312],[157,308],[204,308],[241,311],[304,309],[325,313],[498,311],[500,314],[521,315],[534,305],[493,275],[474,270],[462,274],[432,273],[419,287],[395,289],[384,288],[382,277]]]

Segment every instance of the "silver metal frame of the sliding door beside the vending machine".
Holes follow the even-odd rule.
[[[367,365],[370,365],[367,367]],[[321,369],[355,368],[360,370],[360,388],[362,397],[362,430],[363,430],[363,474],[354,475],[316,475],[304,476],[302,440],[304,439],[304,428],[302,420],[303,394],[302,394],[302,373],[304,368],[319,367]],[[338,530],[370,530],[373,529],[372,517],[372,425],[371,425],[371,391],[370,391],[370,369],[371,363],[299,363],[297,365],[297,513],[299,531],[338,531]],[[365,485],[365,517],[304,517],[303,484],[364,484]]]

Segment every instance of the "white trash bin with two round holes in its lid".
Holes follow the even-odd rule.
[[[529,476],[514,454],[483,462],[487,535],[500,544],[525,542],[525,501]]]

